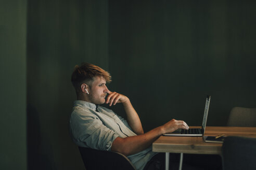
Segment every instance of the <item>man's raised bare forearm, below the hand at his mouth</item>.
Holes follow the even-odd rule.
[[[127,122],[132,127],[133,131],[139,135],[143,134],[143,127],[142,122],[140,122],[139,116],[135,109],[133,108],[129,98],[127,98],[127,101],[123,103],[124,110],[126,112]]]

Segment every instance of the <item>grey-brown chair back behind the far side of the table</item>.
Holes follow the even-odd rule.
[[[232,108],[227,126],[256,126],[256,108]]]

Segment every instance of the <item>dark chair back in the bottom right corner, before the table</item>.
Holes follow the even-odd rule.
[[[228,136],[222,146],[223,170],[256,169],[256,138]]]

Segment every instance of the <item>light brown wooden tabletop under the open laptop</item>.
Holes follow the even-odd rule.
[[[191,126],[196,128],[199,126]],[[256,127],[207,126],[206,136],[245,136],[256,137]],[[160,136],[152,145],[154,152],[221,154],[222,144],[206,143],[202,137]]]

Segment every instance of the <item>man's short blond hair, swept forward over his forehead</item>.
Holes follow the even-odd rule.
[[[81,66],[76,65],[71,76],[71,82],[76,93],[80,91],[82,83],[90,83],[97,76],[105,78],[108,83],[111,82],[110,74],[94,64],[82,63]]]

